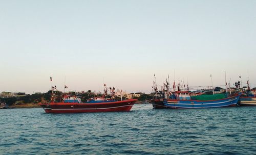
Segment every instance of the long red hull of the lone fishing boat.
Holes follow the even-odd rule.
[[[137,99],[100,103],[63,103],[40,104],[46,113],[88,113],[130,111]]]

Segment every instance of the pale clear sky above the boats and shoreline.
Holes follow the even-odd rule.
[[[256,84],[256,1],[0,1],[0,92]],[[256,87],[253,85],[252,87]]]

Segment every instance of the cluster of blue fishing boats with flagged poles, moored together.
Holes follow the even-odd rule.
[[[154,75],[155,76],[155,75]],[[226,91],[223,93],[215,93],[212,86],[212,94],[206,94],[198,91],[189,91],[188,85],[176,84],[174,81],[173,88],[170,87],[166,79],[161,90],[158,90],[155,81],[153,81],[154,98],[152,105],[155,109],[198,109],[198,108],[218,108],[218,107],[234,107],[234,106],[256,106],[256,90],[250,89],[249,80],[247,87],[241,86],[238,81],[234,84],[236,89],[231,92],[230,85],[226,83]],[[184,89],[181,89],[184,88]],[[229,91],[228,91],[229,90]]]

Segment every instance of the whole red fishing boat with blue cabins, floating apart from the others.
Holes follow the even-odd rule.
[[[52,77],[50,77],[52,81]],[[65,88],[68,88],[65,85]],[[39,105],[46,113],[87,113],[87,112],[124,112],[130,111],[137,99],[115,100],[115,88],[107,88],[104,84],[104,94],[101,97],[94,97],[82,102],[81,98],[76,95],[57,93],[52,87],[51,101],[40,102]],[[111,97],[108,96],[108,90],[111,92]]]

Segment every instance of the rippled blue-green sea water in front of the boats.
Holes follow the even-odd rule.
[[[256,154],[256,107],[0,110],[0,154]]]

